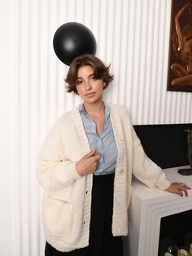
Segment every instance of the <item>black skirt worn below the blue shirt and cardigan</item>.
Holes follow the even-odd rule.
[[[123,256],[121,236],[112,236],[114,174],[94,175],[89,229],[89,246],[68,253],[46,242],[46,256]]]

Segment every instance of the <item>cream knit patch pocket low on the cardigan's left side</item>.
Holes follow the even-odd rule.
[[[43,219],[52,236],[68,235],[72,230],[72,204],[51,196],[44,198]],[[67,236],[68,237],[68,236]]]

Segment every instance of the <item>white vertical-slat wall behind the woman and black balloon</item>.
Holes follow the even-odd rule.
[[[42,256],[41,188],[35,166],[47,131],[81,100],[64,90],[68,67],[52,46],[68,21],[85,24],[116,80],[106,102],[125,104],[133,124],[192,121],[192,94],[168,92],[171,0],[15,0],[11,70],[14,134],[13,256]]]

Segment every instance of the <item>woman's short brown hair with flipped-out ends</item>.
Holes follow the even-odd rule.
[[[72,64],[68,70],[68,75],[65,79],[66,89],[68,92],[73,91],[76,95],[78,95],[76,90],[77,72],[79,68],[85,65],[89,65],[94,69],[94,77],[103,80],[105,83],[104,89],[107,88],[109,83],[114,78],[113,75],[109,73],[110,65],[106,66],[103,64],[102,60],[98,59],[98,57],[94,55],[80,55],[72,61]]]

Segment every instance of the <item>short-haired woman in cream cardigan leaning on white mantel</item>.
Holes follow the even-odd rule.
[[[83,104],[55,123],[37,166],[46,256],[122,256],[132,173],[151,188],[188,195],[188,186],[171,184],[146,157],[126,109],[103,102],[112,80],[109,66],[94,55],[77,57],[69,68],[68,92]]]

